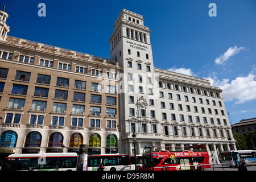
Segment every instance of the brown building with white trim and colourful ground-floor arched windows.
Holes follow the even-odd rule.
[[[10,153],[121,152],[115,61],[8,36],[1,15],[1,159]],[[111,144],[110,144],[111,143]]]

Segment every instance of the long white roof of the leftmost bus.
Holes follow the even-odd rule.
[[[77,156],[75,152],[69,153],[41,153],[41,154],[11,154],[8,158],[29,158],[29,157],[42,157],[42,156]]]

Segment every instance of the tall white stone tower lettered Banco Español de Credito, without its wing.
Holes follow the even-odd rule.
[[[159,122],[154,107],[155,73],[150,43],[150,30],[142,15],[123,9],[110,37],[110,59],[123,68],[119,84],[121,135],[124,154],[133,154],[133,139],[137,134],[137,154],[144,146],[152,146]],[[157,95],[158,96],[158,95]],[[159,127],[160,128],[160,127]],[[147,134],[147,139],[145,139]],[[143,141],[143,142],[142,142]]]

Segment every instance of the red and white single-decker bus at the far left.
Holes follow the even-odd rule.
[[[11,154],[2,171],[76,171],[76,153]]]

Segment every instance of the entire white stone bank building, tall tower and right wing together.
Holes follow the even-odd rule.
[[[150,30],[142,15],[122,10],[109,40],[110,59],[123,68],[119,110],[123,152],[144,146],[205,144],[213,155],[234,138],[220,88],[208,80],[154,67]]]

